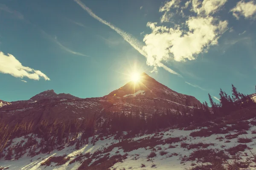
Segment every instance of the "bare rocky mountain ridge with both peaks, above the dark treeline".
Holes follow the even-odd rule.
[[[76,120],[84,119],[87,114],[144,112],[154,114],[173,113],[191,110],[201,103],[193,96],[177,93],[157,82],[147,74],[141,74],[138,83],[128,82],[121,88],[103,97],[80,99],[71,94],[56,94],[47,90],[29,100],[10,102],[0,108],[0,118],[15,126],[18,122],[41,122],[49,119]]]

